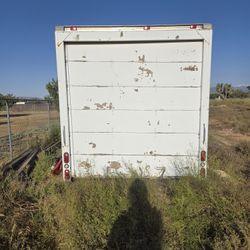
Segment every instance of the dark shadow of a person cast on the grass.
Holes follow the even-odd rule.
[[[115,221],[107,249],[158,250],[162,243],[160,211],[151,207],[144,182],[136,179],[129,188],[130,207]]]

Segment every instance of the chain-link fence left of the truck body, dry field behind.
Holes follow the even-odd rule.
[[[8,102],[0,110],[0,163],[8,161],[59,126],[56,105],[44,101]]]

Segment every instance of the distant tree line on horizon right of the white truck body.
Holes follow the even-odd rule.
[[[233,88],[229,83],[218,83],[216,92],[210,94],[210,99],[228,99],[228,98],[247,98],[250,97],[250,86],[247,86],[248,91],[242,91]]]

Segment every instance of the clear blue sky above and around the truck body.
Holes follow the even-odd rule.
[[[2,0],[0,93],[45,96],[56,25],[212,23],[212,82],[250,85],[250,0]]]

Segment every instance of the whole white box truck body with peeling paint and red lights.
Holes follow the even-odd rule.
[[[56,28],[63,176],[206,174],[209,24]]]

